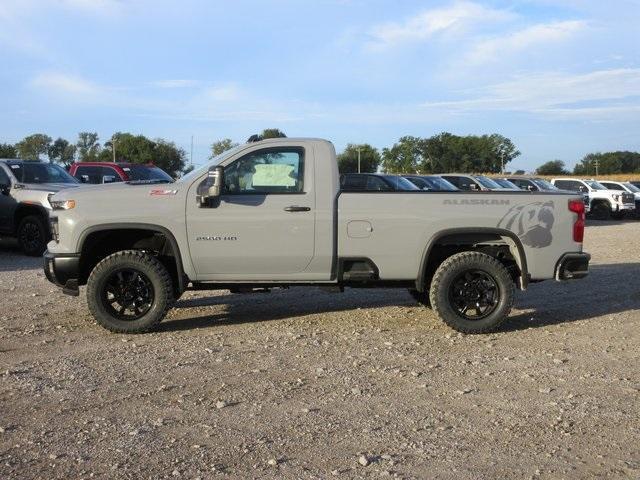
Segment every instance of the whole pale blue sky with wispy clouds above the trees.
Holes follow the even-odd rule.
[[[640,0],[0,0],[0,142],[142,133],[390,146],[497,132],[511,168],[640,150]]]

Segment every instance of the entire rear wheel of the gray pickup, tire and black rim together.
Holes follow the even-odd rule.
[[[433,310],[462,333],[497,329],[511,311],[515,285],[498,260],[480,252],[447,258],[436,270],[429,298]]]

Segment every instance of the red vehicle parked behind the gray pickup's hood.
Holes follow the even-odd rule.
[[[114,183],[144,180],[173,181],[167,172],[152,163],[77,162],[69,173],[81,183]]]

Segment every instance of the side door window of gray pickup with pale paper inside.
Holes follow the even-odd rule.
[[[225,194],[304,192],[301,148],[269,148],[249,153],[224,170]]]

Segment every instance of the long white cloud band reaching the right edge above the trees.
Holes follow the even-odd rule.
[[[640,69],[522,75],[463,93],[475,98],[428,102],[423,107],[457,112],[519,111],[549,116],[605,117],[612,112],[638,111]]]

